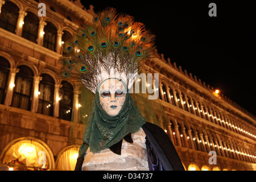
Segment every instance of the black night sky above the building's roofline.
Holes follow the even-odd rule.
[[[256,115],[255,1],[81,2],[86,9],[92,4],[95,12],[109,6],[134,16],[156,35],[158,52],[166,59]],[[217,17],[208,15],[211,2]]]

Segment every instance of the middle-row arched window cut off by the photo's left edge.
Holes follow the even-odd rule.
[[[0,56],[0,104],[5,102],[5,89],[9,76],[10,63]]]

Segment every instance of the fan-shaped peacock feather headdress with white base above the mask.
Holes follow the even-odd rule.
[[[133,17],[108,8],[64,43],[60,75],[74,78],[93,93],[109,77],[121,78],[130,88],[141,65],[154,56],[154,38]]]

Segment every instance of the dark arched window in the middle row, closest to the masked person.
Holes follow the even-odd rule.
[[[67,81],[61,82],[59,118],[71,121],[73,107],[73,86]]]

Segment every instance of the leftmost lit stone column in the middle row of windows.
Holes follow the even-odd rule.
[[[10,106],[11,100],[13,99],[13,90],[15,86],[15,76],[19,72],[17,68],[11,68],[9,73],[8,87],[5,97],[5,105]]]

